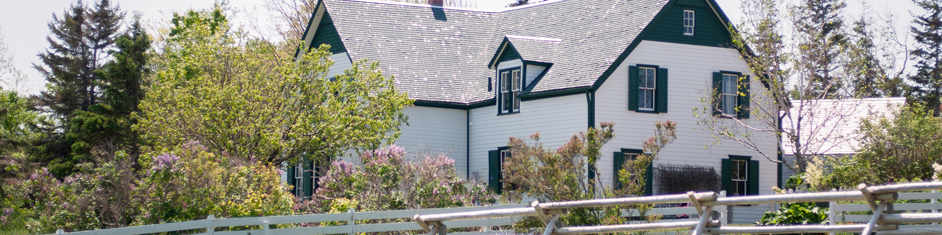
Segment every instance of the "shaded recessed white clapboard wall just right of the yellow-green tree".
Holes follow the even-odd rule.
[[[465,176],[467,159],[467,111],[462,109],[407,106],[402,111],[409,125],[401,125],[396,145],[410,155],[446,154],[455,160],[458,175]]]

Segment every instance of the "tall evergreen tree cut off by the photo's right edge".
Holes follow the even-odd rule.
[[[909,77],[916,86],[910,99],[923,103],[935,117],[939,117],[939,99],[942,94],[942,0],[914,0],[926,13],[913,20],[910,31],[916,39],[916,49],[910,52],[916,60],[916,74]]]

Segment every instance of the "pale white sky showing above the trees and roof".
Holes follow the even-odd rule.
[[[35,2],[34,2],[35,1]],[[0,37],[7,41],[10,52],[14,54],[14,65],[24,71],[30,79],[29,93],[35,93],[42,89],[45,82],[40,73],[32,68],[33,63],[40,63],[36,56],[43,52],[48,46],[45,38],[49,34],[46,25],[51,19],[52,14],[61,15],[65,8],[73,4],[74,0],[0,0]],[[86,3],[95,0],[86,0]],[[159,21],[164,19],[174,11],[186,10],[187,8],[210,8],[215,0],[113,0],[128,12],[130,16],[133,11],[143,13],[145,22]],[[625,0],[612,0],[625,1]],[[514,2],[514,0],[477,0],[478,8],[499,9]],[[720,8],[734,23],[739,23],[739,0],[717,0]],[[870,0],[871,10],[884,12],[886,9],[898,16],[898,23],[908,24],[911,22],[910,10],[917,13],[918,7],[907,0]],[[230,7],[252,9],[261,8],[262,0],[229,0]],[[857,0],[848,0],[848,13],[859,14],[861,11],[860,2]],[[245,22],[245,14],[237,14],[236,23]]]

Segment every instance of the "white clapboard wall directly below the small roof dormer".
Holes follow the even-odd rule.
[[[588,127],[584,94],[520,102],[520,113],[497,115],[497,106],[471,110],[471,173],[487,182],[487,151],[506,147],[510,137],[540,133],[545,148],[557,149]],[[472,179],[476,180],[476,179]]]

